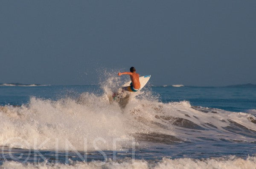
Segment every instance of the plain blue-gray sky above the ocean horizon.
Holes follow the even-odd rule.
[[[256,84],[255,0],[1,0],[0,82]]]

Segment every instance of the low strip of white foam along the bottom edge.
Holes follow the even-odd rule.
[[[19,168],[19,169],[253,169],[256,166],[256,157],[248,156],[246,159],[236,156],[227,156],[222,158],[192,159],[192,158],[163,158],[159,162],[145,160],[119,160],[112,161],[109,159],[106,163],[99,165],[95,162],[78,162],[71,161],[70,165],[53,163],[48,165],[47,162],[42,163],[19,163],[6,161],[2,168]]]

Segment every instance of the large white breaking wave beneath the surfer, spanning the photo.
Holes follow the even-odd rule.
[[[256,141],[252,113],[196,107],[188,101],[162,103],[145,90],[120,106],[109,101],[111,83],[116,82],[109,79],[102,84],[102,95],[81,93],[75,99],[56,101],[31,97],[20,107],[0,107],[0,146],[84,150],[86,144],[86,149],[93,151],[129,148],[131,140],[138,147],[145,141]],[[113,145],[117,138],[122,141]],[[22,144],[16,144],[21,142],[17,139]]]

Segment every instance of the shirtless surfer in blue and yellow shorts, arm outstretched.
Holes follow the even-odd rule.
[[[123,90],[127,90],[129,92],[137,92],[140,89],[140,75],[136,73],[136,69],[134,67],[130,68],[130,72],[118,73],[118,76],[123,74],[128,74],[131,77],[131,86],[122,87]]]

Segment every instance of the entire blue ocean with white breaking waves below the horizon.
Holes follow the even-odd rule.
[[[255,168],[256,88],[113,83],[0,86],[0,168]]]

